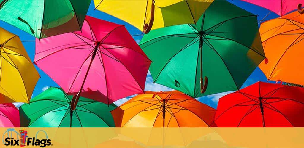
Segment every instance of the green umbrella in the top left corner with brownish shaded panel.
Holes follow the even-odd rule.
[[[91,0],[0,0],[0,20],[38,39],[81,30]]]

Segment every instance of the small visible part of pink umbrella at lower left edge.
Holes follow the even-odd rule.
[[[20,127],[19,110],[14,104],[0,104],[0,115],[0,127]]]

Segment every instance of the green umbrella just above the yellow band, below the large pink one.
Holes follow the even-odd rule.
[[[115,127],[111,110],[117,106],[80,97],[71,112],[73,96],[50,87],[19,108],[21,127]],[[72,113],[72,116],[70,116]],[[72,117],[72,118],[71,118]]]

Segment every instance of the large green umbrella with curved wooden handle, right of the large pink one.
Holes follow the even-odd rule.
[[[154,82],[195,98],[239,89],[264,59],[256,15],[224,0],[214,1],[196,25],[152,30],[140,47],[153,61]]]

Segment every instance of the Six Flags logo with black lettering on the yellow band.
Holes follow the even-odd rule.
[[[37,135],[40,131],[45,133],[46,139],[41,139],[41,140],[37,139]],[[5,133],[4,133],[3,137],[2,137],[2,141],[3,141],[5,146],[20,146],[20,147],[23,147],[23,146],[32,145],[32,146],[46,147],[46,146],[52,145],[51,140],[47,138],[47,133],[43,130],[40,130],[40,131],[38,131],[36,133],[36,138],[35,138],[35,137],[29,137],[28,136],[28,131],[26,129],[19,130],[19,133],[16,132],[14,129],[8,129],[5,132],[5,133],[7,133],[6,138],[4,139],[4,136],[5,136]],[[11,133],[10,137],[9,137],[9,132]],[[12,137],[13,132],[16,133],[17,139]]]

